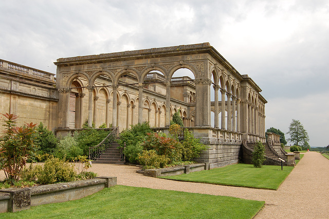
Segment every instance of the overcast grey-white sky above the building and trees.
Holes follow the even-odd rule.
[[[266,129],[296,119],[329,144],[327,0],[11,0],[0,28],[0,59],[53,73],[58,58],[209,42],[263,90]]]

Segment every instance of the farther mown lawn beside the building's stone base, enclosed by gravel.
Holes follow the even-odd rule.
[[[283,170],[281,170],[281,166],[263,166],[262,168],[254,168],[253,165],[238,163],[236,165],[212,170],[178,176],[165,176],[161,178],[277,190],[293,169],[294,167],[283,167]]]

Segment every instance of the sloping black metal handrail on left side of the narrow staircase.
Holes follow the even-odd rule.
[[[113,141],[119,136],[119,127],[115,127],[115,129],[109,133],[102,142],[97,144],[94,147],[89,148],[89,160],[95,160],[99,158],[106,149],[113,143]]]

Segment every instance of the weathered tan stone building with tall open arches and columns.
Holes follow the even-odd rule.
[[[209,145],[197,160],[210,168],[238,162],[243,140],[265,142],[267,101],[261,88],[209,43],[60,58],[54,63],[56,90],[50,73],[42,79],[31,68],[24,66],[27,72],[21,72],[9,68],[13,63],[1,63],[1,112],[28,119],[30,102],[39,101],[42,108],[35,112],[45,115],[40,121],[58,134],[85,121],[88,126],[119,126],[120,131],[149,121],[167,132],[172,115],[179,112],[194,136]],[[176,77],[182,68],[190,74]],[[19,92],[13,86],[17,83],[29,88]],[[12,109],[14,101],[18,106]],[[28,111],[21,110],[24,105]]]

